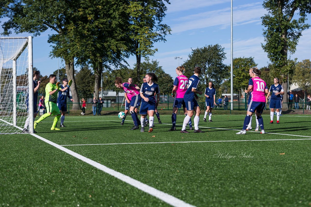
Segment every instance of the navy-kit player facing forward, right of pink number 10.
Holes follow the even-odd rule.
[[[269,92],[267,94],[266,103],[268,102],[268,97],[271,94],[270,105],[270,124],[273,124],[274,109],[276,109],[276,124],[280,124],[280,109],[282,108],[281,95],[284,94],[283,86],[280,84],[278,78],[273,79],[273,83],[270,86]]]

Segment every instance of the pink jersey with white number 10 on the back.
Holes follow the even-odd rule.
[[[264,82],[261,78],[255,77],[249,79],[248,85],[253,86],[252,89],[252,100],[258,102],[266,102],[266,92],[267,88],[266,82]]]

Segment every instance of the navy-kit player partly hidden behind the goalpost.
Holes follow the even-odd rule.
[[[35,80],[38,80],[40,78],[40,72],[38,70],[34,70],[33,71],[33,84],[34,84],[34,120],[37,116],[37,102],[38,102],[38,90],[39,90],[39,87],[40,87],[40,82],[41,81],[38,81],[36,82]],[[29,96],[27,94],[27,98],[26,98],[26,106],[27,106],[27,110],[28,110],[28,106],[29,106]],[[26,122],[25,122],[25,125],[24,125],[24,128],[23,128],[23,133],[29,133],[29,130],[28,130],[28,127],[29,127],[29,120],[30,118],[28,117],[26,119]],[[36,131],[34,131],[36,133]]]

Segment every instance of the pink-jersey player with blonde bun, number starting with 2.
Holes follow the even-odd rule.
[[[175,78],[174,84],[173,84],[173,90],[172,90],[172,97],[175,97],[174,104],[173,104],[173,113],[172,113],[172,128],[169,129],[169,131],[175,131],[176,130],[176,119],[177,119],[177,111],[181,106],[183,106],[183,111],[185,115],[187,115],[187,108],[186,104],[183,101],[183,96],[185,95],[185,92],[187,91],[187,85],[188,85],[188,78],[183,75],[183,71],[185,71],[185,68],[183,66],[178,66],[176,68],[176,74],[178,77]],[[175,95],[176,92],[176,95]],[[192,128],[192,122],[191,119],[189,121],[189,127],[190,130],[193,130]]]

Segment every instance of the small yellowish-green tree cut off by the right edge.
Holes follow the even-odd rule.
[[[309,59],[297,63],[293,82],[304,90],[305,99],[307,93],[311,92],[311,61]]]

